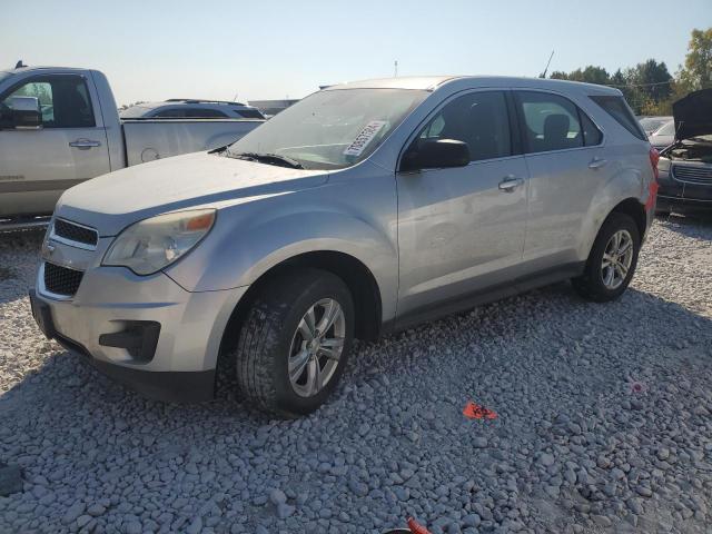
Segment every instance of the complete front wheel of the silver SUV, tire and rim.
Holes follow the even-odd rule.
[[[336,387],[353,336],[354,303],[340,278],[317,269],[283,276],[247,314],[235,353],[238,387],[277,416],[314,412]]]

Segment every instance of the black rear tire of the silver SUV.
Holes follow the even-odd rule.
[[[613,248],[609,247],[614,245],[612,239],[616,235],[621,236],[621,241],[627,237],[631,239],[632,254],[630,256],[630,264],[627,264],[629,266],[625,271],[625,276],[622,276],[622,273],[617,267],[604,267],[604,254],[607,255],[606,250],[613,250]],[[607,303],[610,300],[615,300],[623,295],[633,278],[640,249],[641,235],[633,218],[625,214],[612,212],[599,230],[599,235],[596,236],[593,247],[591,248],[591,253],[589,254],[589,259],[586,260],[583,275],[571,280],[574,289],[583,298],[593,300],[594,303]],[[611,257],[611,255],[607,256]],[[613,256],[617,257],[616,255]],[[609,263],[606,259],[606,263],[609,266],[620,265],[624,267],[629,258],[627,256],[621,256],[619,259],[621,261],[615,261],[613,264]],[[614,270],[613,279],[607,276],[611,273],[611,268]],[[615,278],[615,276],[617,276],[617,278]],[[609,281],[609,284],[606,284],[606,281]]]

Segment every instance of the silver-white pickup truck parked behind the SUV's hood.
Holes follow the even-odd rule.
[[[0,222],[49,215],[68,188],[113,170],[229,145],[256,119],[121,120],[98,70],[0,71]]]

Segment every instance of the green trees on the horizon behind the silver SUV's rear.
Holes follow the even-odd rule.
[[[636,115],[672,115],[672,102],[700,89],[712,88],[712,28],[692,30],[684,65],[671,75],[664,61],[649,59],[612,75],[590,65],[550,78],[611,86],[623,91]]]

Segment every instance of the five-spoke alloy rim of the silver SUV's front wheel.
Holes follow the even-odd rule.
[[[287,365],[297,395],[313,397],[326,387],[338,367],[345,337],[346,319],[338,301],[323,298],[307,309],[291,337]]]

